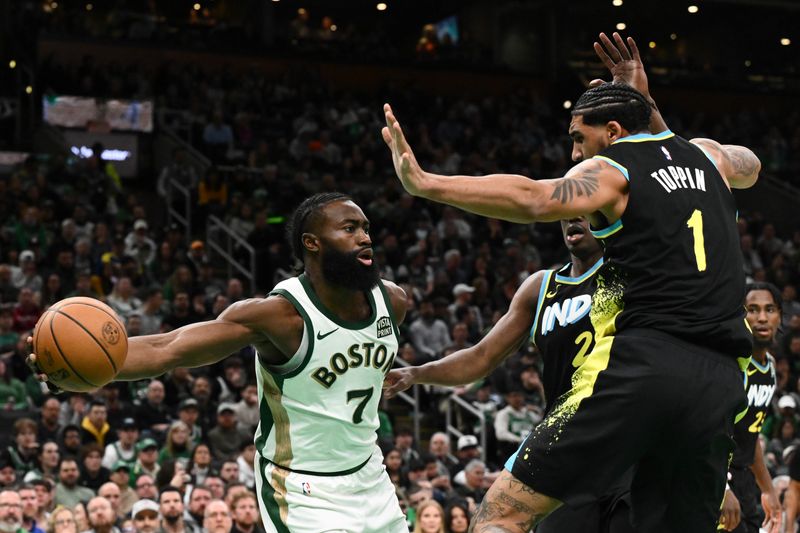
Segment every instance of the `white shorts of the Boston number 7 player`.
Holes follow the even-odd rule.
[[[255,471],[267,533],[408,533],[377,446],[367,464],[344,476],[289,472],[258,453]]]

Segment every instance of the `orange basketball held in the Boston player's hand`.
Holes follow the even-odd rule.
[[[89,391],[116,377],[128,355],[128,335],[114,310],[100,300],[66,298],[39,318],[33,353],[53,384]]]

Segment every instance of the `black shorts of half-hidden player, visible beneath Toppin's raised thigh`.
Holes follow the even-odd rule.
[[[562,505],[534,530],[536,533],[634,533],[630,519],[629,470],[599,499],[578,507]]]

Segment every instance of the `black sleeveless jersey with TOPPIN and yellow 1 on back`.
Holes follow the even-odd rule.
[[[736,204],[710,155],[665,131],[624,137],[595,159],[629,181],[622,218],[592,231],[605,244],[597,335],[655,329],[749,358]]]

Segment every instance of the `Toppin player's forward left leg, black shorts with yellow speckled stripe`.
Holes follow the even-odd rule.
[[[650,359],[626,339],[598,339],[572,389],[506,463],[513,476],[495,483],[477,525],[527,531],[556,502],[579,508],[618,483],[670,409],[666,378]]]

